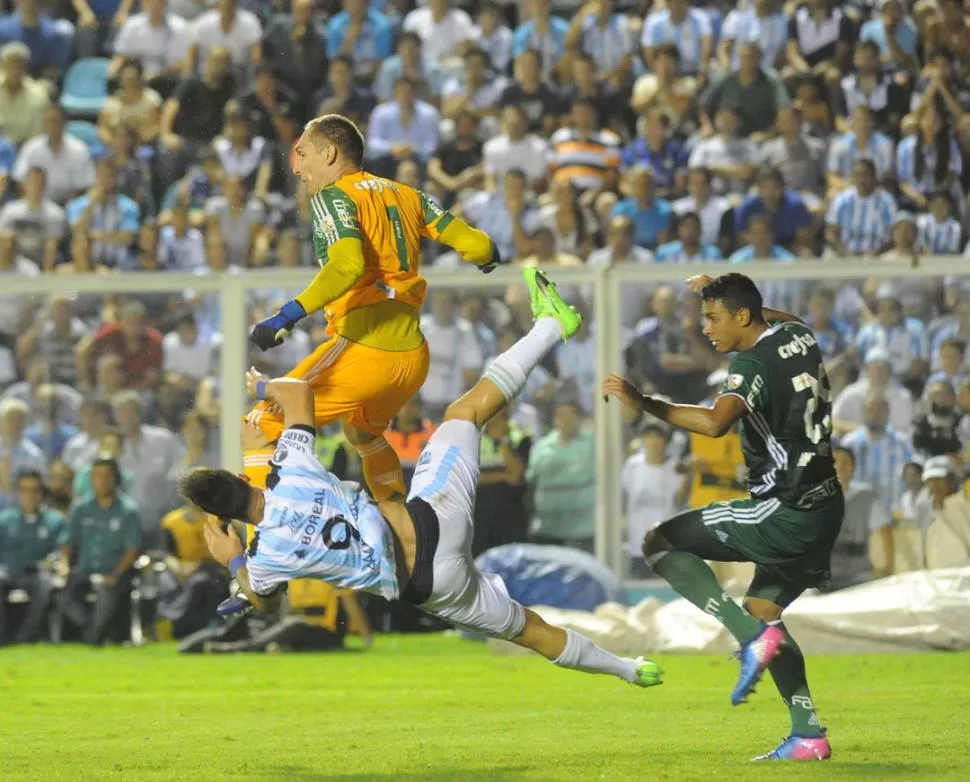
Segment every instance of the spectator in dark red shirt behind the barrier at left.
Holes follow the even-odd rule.
[[[162,335],[145,322],[145,306],[137,301],[126,304],[117,323],[105,323],[93,337],[78,346],[79,377],[83,387],[90,384],[91,361],[112,354],[121,359],[125,387],[138,390],[154,388],[162,367]]]

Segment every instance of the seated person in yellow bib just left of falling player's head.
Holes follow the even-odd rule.
[[[158,616],[173,638],[198,632],[210,622],[228,586],[225,570],[209,554],[203,537],[206,514],[192,505],[162,519],[166,570],[161,576]]]

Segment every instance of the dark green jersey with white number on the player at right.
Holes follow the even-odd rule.
[[[748,408],[740,428],[752,496],[809,510],[841,491],[830,443],[832,394],[808,326],[776,323],[736,354],[725,394],[741,397]]]

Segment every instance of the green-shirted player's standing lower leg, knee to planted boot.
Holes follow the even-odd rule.
[[[788,707],[791,734],[774,752],[761,759],[824,759],[831,755],[808,689],[805,656],[781,619],[782,612],[802,591],[797,580],[786,577],[778,568],[759,566],[744,598],[748,613],[778,628],[784,635],[784,642],[768,671]]]

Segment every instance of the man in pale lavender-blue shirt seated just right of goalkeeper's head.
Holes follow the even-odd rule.
[[[419,9],[420,10],[420,9]],[[439,115],[434,106],[415,97],[414,84],[401,77],[394,100],[374,109],[367,129],[368,166],[391,175],[394,161],[427,162],[438,148]]]

